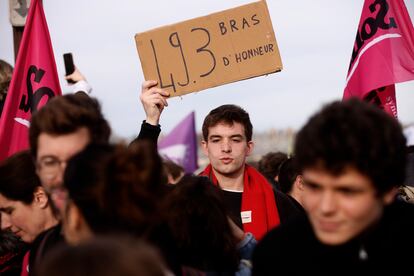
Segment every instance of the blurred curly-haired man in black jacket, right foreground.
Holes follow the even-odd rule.
[[[398,121],[359,100],[312,116],[295,143],[307,217],[266,235],[253,275],[410,274],[414,206],[395,200],[405,150]]]

